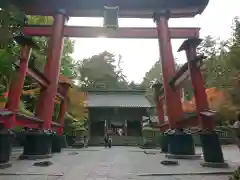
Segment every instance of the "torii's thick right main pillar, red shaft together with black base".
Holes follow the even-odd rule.
[[[168,27],[169,17],[170,12],[168,10],[158,11],[153,15],[158,32],[166,111],[168,114],[169,127],[172,130],[171,134],[167,133],[166,137],[169,142],[168,153],[174,157],[181,155],[192,156],[195,155],[193,138],[191,135],[184,133],[182,127],[178,127],[177,124],[177,121],[184,118],[180,90],[175,90],[169,86],[170,79],[176,73]]]

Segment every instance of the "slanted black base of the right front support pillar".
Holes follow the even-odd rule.
[[[205,161],[202,165],[215,168],[226,167],[218,135],[215,132],[202,132],[200,140]]]

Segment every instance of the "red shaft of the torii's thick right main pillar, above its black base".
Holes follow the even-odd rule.
[[[170,128],[177,128],[176,121],[183,117],[180,93],[169,87],[168,82],[175,74],[175,62],[172,53],[170,34],[168,29],[168,11],[154,13],[157,24],[159,52],[162,62],[164,94]]]

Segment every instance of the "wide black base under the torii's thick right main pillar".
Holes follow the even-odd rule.
[[[168,134],[168,153],[172,155],[195,156],[195,146],[191,134],[174,130]]]

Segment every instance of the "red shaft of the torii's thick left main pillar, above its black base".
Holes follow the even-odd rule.
[[[54,18],[48,62],[44,70],[44,74],[48,78],[50,84],[47,88],[42,89],[40,93],[39,104],[36,109],[36,116],[44,120],[44,129],[51,128],[52,114],[54,110],[61,65],[61,55],[64,40],[63,30],[67,20],[64,10],[59,10]]]

